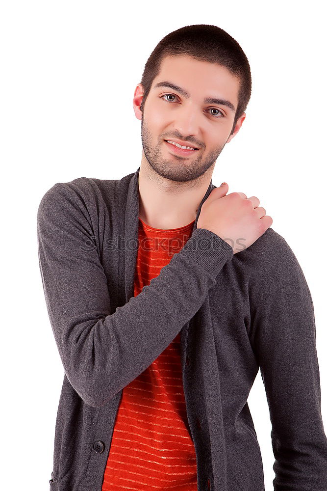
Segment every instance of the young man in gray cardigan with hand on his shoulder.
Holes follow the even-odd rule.
[[[250,94],[233,38],[178,29],[135,90],[137,171],[43,196],[40,269],[65,369],[50,490],[263,491],[247,404],[260,369],[274,489],[326,491],[302,269],[257,197],[211,181]]]

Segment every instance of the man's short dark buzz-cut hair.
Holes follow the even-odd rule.
[[[251,97],[251,69],[248,58],[238,42],[224,29],[208,24],[195,24],[185,26],[170,32],[161,39],[152,51],[145,64],[141,83],[144,87],[144,96],[140,106],[144,109],[145,101],[149,95],[151,84],[160,72],[161,61],[166,56],[188,55],[199,61],[218,63],[236,76],[240,82],[238,104],[235,112],[233,128],[248,106]]]

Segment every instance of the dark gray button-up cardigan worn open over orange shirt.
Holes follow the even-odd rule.
[[[181,331],[198,490],[264,490],[247,403],[260,368],[274,490],[326,491],[314,311],[292,249],[270,227],[233,255],[197,229],[210,182],[192,236],[134,298],[139,169],[56,183],[39,204],[40,271],[65,371],[50,490],[101,491],[122,389]]]

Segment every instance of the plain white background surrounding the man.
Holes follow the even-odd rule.
[[[247,117],[219,156],[212,182],[258,196],[296,254],[314,302],[327,429],[322,9],[320,1],[1,2],[2,489],[48,490],[52,470],[64,371],[38,265],[41,197],[56,182],[119,179],[137,170],[134,89],[160,39],[190,24],[222,27],[248,56]],[[249,406],[271,491],[274,455],[260,373]]]

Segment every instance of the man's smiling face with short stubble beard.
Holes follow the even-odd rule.
[[[175,87],[156,86],[161,82]],[[145,158],[157,174],[171,181],[185,182],[200,177],[214,166],[245,118],[243,113],[231,136],[238,90],[239,81],[225,67],[189,56],[164,58],[141,115],[142,160]],[[137,109],[135,102],[142,100],[137,98],[141,93],[143,87],[138,84],[134,109]],[[221,101],[204,102],[207,98]],[[180,143],[183,146],[194,145],[197,150],[181,153],[166,141],[174,139],[185,142]]]

